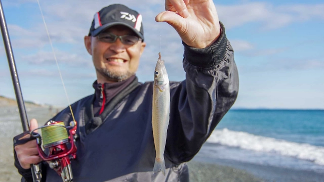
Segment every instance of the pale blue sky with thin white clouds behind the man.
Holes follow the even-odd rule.
[[[70,103],[94,93],[91,56],[84,47],[93,16],[124,4],[143,16],[147,46],[137,76],[151,81],[161,52],[169,79],[185,79],[177,32],[155,16],[161,0],[39,0]],[[25,100],[67,106],[41,12],[35,0],[2,1]],[[214,1],[234,49],[239,72],[233,108],[324,109],[324,3],[317,0]],[[145,6],[143,6],[145,5]],[[0,95],[15,98],[8,61],[0,45]]]

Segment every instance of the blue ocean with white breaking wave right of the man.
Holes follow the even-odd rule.
[[[324,110],[230,110],[197,156],[315,172],[324,181]]]

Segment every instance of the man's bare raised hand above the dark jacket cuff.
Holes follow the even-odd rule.
[[[166,0],[165,12],[155,17],[167,22],[190,47],[206,48],[220,35],[220,24],[212,0]]]

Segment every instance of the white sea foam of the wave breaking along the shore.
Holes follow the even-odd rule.
[[[232,131],[227,128],[214,130],[207,142],[259,152],[276,153],[324,165],[324,147],[310,144],[278,140],[248,132]]]

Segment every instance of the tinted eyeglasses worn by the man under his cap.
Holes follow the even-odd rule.
[[[117,38],[119,38],[121,43],[124,43],[127,45],[134,45],[135,43],[138,42],[138,40],[141,39],[138,36],[133,36],[133,35],[117,36],[112,33],[100,33],[97,37],[100,41],[108,42],[108,43],[113,43],[117,40]]]

